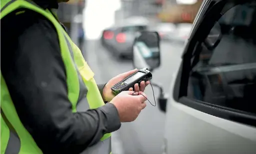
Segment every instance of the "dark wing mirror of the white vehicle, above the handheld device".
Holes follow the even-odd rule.
[[[160,66],[160,37],[157,32],[141,31],[132,48],[132,64],[149,71]]]

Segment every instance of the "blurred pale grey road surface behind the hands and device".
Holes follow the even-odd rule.
[[[183,44],[180,42],[162,42],[161,66],[152,74],[152,83],[163,87],[168,92],[172,74],[178,69]],[[95,73],[95,80],[106,83],[112,77],[134,69],[130,60],[118,60],[109,51],[104,49],[99,41],[86,41],[83,55]],[[138,118],[132,123],[122,123],[121,128],[112,134],[112,154],[161,154],[164,113],[157,107],[159,91],[153,87],[156,107],[147,103]],[[145,94],[154,104],[153,93],[150,85]]]

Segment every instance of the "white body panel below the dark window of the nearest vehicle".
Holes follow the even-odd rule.
[[[172,93],[169,96],[163,154],[256,153],[256,128],[200,112],[176,102]]]

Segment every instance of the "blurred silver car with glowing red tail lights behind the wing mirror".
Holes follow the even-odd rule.
[[[132,44],[137,32],[147,30],[147,28],[148,23],[144,21],[127,21],[106,28],[102,32],[101,45],[118,58],[131,58]]]

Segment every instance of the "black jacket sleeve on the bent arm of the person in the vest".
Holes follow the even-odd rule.
[[[79,154],[120,128],[118,112],[107,103],[72,113],[57,33],[44,18],[26,19],[1,22],[15,29],[1,31],[1,72],[16,112],[43,154]]]

